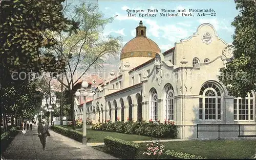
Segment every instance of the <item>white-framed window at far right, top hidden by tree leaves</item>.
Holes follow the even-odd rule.
[[[234,98],[234,120],[254,120],[254,105],[252,92],[248,92],[244,99]]]

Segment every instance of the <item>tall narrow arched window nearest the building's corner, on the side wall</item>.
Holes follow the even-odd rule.
[[[165,87],[166,120],[174,120],[174,89],[172,85]]]

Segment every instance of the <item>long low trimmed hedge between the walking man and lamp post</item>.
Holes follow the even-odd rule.
[[[51,126],[51,129],[60,135],[69,137],[78,142],[82,142],[82,133],[77,130],[69,130],[58,125]]]

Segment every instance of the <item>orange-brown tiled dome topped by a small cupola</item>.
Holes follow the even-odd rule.
[[[146,37],[146,27],[140,21],[136,28],[136,37],[127,42],[121,50],[120,59],[130,57],[152,57],[159,53],[160,48],[151,39]]]

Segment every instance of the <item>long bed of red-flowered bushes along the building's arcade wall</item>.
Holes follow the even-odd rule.
[[[177,138],[177,126],[173,122],[110,122],[93,124],[92,129],[141,135],[155,138]]]

